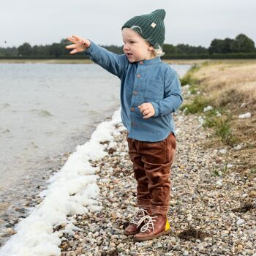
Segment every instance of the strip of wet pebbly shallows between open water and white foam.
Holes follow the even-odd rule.
[[[9,190],[0,190],[0,251],[1,247],[15,234],[15,225],[29,217],[31,210],[42,203],[42,197],[39,196],[39,193],[47,189],[48,179],[61,170],[75,148],[90,140],[92,133],[99,124],[110,120],[114,111],[116,111],[116,108],[110,111],[111,114],[95,122],[89,128],[86,136],[85,131],[80,131],[80,134],[76,135],[75,142],[69,146],[68,151],[38,159],[43,167],[31,169],[29,173],[26,173],[26,176],[22,176],[19,181],[16,181],[15,186]]]

